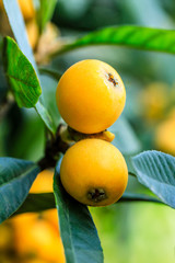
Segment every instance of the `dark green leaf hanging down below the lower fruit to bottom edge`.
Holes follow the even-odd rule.
[[[59,164],[55,172],[54,193],[67,262],[102,263],[103,251],[91,214],[86,206],[63,190],[59,179]]]

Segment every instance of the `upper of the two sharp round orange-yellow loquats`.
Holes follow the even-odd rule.
[[[63,73],[56,100],[62,118],[70,127],[80,133],[95,134],[108,128],[119,117],[126,91],[114,68],[103,61],[88,59],[74,64]]]

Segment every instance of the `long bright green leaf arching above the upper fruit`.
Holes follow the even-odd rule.
[[[57,52],[66,52],[89,45],[120,45],[143,50],[175,54],[175,31],[122,25],[92,32]]]

